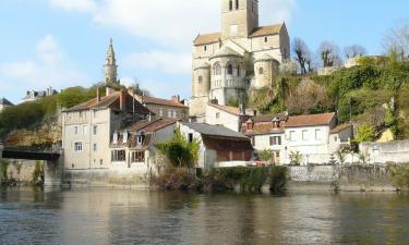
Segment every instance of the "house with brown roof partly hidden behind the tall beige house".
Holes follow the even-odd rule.
[[[151,96],[135,96],[136,99],[159,118],[189,119],[189,107],[184,106],[179,96],[172,96],[170,100]]]

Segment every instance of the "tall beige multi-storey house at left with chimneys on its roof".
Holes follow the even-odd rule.
[[[151,114],[125,90],[107,88],[101,97],[97,88],[96,98],[62,111],[64,168],[109,169],[110,135]]]

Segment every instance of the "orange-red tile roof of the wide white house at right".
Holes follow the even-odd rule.
[[[329,125],[334,118],[335,113],[289,117],[286,127]]]

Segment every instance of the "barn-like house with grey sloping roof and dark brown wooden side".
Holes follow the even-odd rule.
[[[181,132],[188,140],[199,140],[200,168],[213,168],[229,163],[242,166],[253,154],[253,146],[249,137],[220,125],[206,123],[180,123]]]

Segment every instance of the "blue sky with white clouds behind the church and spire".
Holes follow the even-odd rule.
[[[324,40],[383,52],[383,37],[409,20],[408,0],[260,0],[261,25],[286,22],[311,50]],[[192,40],[219,32],[220,0],[1,0],[0,97],[89,87],[104,81],[113,38],[119,78],[154,96],[191,96]]]

